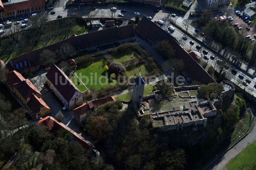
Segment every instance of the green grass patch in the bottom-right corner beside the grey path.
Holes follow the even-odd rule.
[[[252,170],[256,167],[256,143],[251,143],[227,164],[229,170]]]

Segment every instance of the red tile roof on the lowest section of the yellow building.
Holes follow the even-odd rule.
[[[42,109],[50,109],[50,107],[41,98],[38,98],[35,94],[31,96],[30,101],[27,103],[27,106],[30,108],[34,115],[36,113],[39,113]]]

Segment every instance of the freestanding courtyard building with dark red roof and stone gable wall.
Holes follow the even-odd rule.
[[[83,94],[56,65],[46,74],[46,83],[68,110],[82,104]]]

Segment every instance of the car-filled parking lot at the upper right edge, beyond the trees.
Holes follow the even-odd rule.
[[[243,14],[243,11],[240,11]],[[238,16],[235,12],[232,12],[231,15],[233,17],[233,21],[229,21],[234,26],[235,23],[238,23],[240,27],[250,27],[250,30],[246,29],[243,33],[244,36],[251,35],[252,39],[255,39],[253,36],[256,34],[255,25],[252,23],[246,23],[242,17]],[[227,16],[228,17],[228,16]]]

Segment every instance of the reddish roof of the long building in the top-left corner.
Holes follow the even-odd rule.
[[[1,5],[1,3],[0,3]],[[2,4],[3,5],[3,4]],[[30,7],[38,7],[38,6],[45,6],[44,0],[29,0],[23,2],[17,2],[13,4],[4,5],[4,9],[6,12],[20,10],[20,9],[29,9]]]

